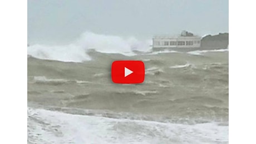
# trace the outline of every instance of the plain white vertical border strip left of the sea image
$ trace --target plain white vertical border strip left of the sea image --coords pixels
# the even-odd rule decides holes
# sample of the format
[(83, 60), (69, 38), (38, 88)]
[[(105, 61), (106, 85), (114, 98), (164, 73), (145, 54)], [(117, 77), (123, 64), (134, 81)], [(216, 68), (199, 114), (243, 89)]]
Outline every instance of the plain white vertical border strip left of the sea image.
[(27, 1), (1, 1), (0, 18), (0, 143), (27, 143)]

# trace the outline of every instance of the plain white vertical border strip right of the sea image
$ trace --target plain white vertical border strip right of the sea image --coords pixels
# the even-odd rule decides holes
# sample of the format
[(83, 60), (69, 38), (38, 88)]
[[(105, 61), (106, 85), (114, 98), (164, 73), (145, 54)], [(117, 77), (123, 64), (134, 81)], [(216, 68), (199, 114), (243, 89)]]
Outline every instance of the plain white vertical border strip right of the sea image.
[(255, 1), (229, 1), (229, 143), (256, 143)]

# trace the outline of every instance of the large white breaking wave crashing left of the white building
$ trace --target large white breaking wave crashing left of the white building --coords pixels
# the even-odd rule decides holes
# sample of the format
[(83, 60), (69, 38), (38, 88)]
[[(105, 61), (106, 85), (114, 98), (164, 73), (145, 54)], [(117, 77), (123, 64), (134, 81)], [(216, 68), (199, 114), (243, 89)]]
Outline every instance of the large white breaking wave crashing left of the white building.
[(82, 62), (91, 60), (86, 53), (88, 49), (95, 49), (101, 53), (120, 53), (135, 55), (134, 50), (149, 51), (151, 40), (137, 40), (134, 37), (122, 38), (115, 35), (85, 32), (80, 38), (68, 45), (35, 44), (27, 48), (28, 55), (39, 59)]

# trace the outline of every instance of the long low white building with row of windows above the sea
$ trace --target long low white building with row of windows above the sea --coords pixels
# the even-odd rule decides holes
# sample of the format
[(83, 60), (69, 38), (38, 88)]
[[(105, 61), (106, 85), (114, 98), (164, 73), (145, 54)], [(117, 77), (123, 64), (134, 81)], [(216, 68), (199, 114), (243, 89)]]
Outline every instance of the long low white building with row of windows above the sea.
[(201, 37), (184, 31), (178, 37), (154, 36), (152, 39), (152, 48), (169, 49), (169, 48), (200, 48)]

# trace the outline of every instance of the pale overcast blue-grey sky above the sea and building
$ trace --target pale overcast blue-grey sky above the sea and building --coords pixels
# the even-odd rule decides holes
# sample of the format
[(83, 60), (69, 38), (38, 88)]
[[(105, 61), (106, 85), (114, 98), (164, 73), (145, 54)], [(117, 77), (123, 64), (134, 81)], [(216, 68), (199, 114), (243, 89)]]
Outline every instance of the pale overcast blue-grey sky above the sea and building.
[(28, 0), (28, 43), (68, 43), (86, 31), (139, 39), (217, 34), (228, 24), (226, 0)]

